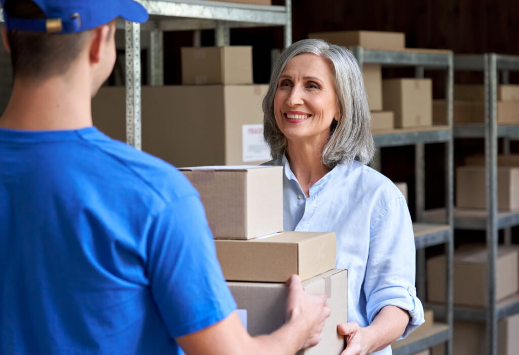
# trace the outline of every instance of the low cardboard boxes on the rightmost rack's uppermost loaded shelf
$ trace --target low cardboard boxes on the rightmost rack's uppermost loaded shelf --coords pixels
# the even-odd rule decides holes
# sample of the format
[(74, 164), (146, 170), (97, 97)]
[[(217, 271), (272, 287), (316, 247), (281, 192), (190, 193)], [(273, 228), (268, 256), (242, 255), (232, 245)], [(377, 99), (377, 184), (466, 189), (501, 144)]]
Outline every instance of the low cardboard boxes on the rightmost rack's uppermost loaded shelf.
[[(519, 85), (499, 85), (497, 90), (497, 123), (519, 124)], [(453, 120), (456, 124), (485, 122), (485, 87), (455, 85)], [(433, 121), (445, 124), (445, 101), (434, 100)]]

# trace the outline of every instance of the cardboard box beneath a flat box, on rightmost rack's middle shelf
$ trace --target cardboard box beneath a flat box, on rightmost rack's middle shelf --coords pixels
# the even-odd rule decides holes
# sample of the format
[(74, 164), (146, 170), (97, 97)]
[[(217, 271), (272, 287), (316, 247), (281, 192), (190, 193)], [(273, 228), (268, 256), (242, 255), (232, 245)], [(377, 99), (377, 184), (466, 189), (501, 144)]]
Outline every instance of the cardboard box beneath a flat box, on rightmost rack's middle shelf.
[[(456, 207), (486, 208), (485, 167), (456, 169)], [(519, 167), (497, 168), (497, 208), (519, 210)]]

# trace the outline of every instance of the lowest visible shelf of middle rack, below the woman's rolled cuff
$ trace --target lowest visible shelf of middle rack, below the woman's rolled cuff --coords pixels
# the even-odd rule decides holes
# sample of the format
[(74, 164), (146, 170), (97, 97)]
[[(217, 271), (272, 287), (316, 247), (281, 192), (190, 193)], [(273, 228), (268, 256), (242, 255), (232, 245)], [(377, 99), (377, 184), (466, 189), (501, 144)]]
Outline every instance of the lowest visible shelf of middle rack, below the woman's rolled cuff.
[(449, 325), (446, 323), (434, 323), (430, 329), (418, 328), (405, 339), (391, 344), (393, 355), (414, 354), (431, 348), (437, 344), (445, 343), (450, 339)]

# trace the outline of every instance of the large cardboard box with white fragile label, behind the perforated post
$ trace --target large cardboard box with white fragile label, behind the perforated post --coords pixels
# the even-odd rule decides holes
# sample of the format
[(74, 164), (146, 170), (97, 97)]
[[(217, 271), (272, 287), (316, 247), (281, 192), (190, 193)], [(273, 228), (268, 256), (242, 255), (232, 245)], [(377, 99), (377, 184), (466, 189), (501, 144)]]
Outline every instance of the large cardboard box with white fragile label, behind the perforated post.
[[(257, 165), (270, 160), (261, 103), (267, 85), (142, 88), (142, 149), (177, 167)], [(103, 87), (94, 126), (126, 141), (124, 87)]]

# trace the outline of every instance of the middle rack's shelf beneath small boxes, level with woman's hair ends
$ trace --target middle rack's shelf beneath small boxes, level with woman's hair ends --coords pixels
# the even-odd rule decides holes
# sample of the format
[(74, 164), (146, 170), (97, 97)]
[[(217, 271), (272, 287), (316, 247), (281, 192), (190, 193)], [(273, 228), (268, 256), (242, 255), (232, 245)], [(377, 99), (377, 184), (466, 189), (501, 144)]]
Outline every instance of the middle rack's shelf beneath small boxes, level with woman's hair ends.
[(395, 128), (374, 130), (373, 140), (377, 147), (412, 145), (418, 143), (444, 143), (450, 140), (449, 126), (430, 126), (417, 128)]

